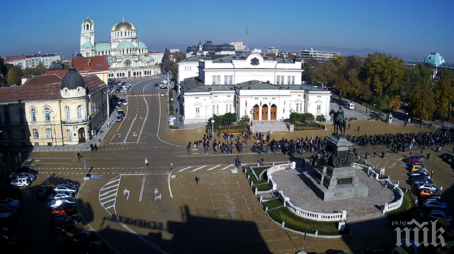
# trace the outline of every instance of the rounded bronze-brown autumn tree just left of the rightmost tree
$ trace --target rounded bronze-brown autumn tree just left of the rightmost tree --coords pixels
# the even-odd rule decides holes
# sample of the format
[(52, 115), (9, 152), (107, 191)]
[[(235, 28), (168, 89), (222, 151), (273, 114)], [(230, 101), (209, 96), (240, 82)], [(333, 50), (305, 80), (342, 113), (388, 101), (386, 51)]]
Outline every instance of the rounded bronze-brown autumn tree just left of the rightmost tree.
[(410, 92), (410, 115), (421, 120), (433, 118), (433, 112), (437, 109), (435, 95), (429, 87), (420, 87)]

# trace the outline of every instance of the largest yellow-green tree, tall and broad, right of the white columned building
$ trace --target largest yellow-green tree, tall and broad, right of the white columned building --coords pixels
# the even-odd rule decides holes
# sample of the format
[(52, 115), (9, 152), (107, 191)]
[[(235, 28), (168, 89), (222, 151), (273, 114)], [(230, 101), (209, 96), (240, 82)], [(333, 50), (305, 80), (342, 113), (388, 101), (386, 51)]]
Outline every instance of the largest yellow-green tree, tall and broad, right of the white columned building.
[(375, 103), (388, 103), (389, 99), (400, 92), (404, 61), (397, 56), (381, 53), (369, 54), (358, 78), (370, 85)]

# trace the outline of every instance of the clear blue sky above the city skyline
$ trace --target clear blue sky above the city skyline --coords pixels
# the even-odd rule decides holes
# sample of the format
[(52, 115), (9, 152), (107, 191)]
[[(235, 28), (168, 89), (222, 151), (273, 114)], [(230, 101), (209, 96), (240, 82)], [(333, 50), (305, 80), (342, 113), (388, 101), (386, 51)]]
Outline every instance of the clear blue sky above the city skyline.
[(263, 51), (271, 46), (371, 49), (419, 61), (440, 52), (454, 63), (451, 0), (17, 0), (3, 1), (1, 7), (1, 56), (56, 52), (68, 58), (79, 49), (80, 24), (89, 16), (96, 42), (109, 41), (112, 27), (125, 17), (150, 51), (185, 51), (199, 39), (246, 43), (248, 26), (249, 47)]

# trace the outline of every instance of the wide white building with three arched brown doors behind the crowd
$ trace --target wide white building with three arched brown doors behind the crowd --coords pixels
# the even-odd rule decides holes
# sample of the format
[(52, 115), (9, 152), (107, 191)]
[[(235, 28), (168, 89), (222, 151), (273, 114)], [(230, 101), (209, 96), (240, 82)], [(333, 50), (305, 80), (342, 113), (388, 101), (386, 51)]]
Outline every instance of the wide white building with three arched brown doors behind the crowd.
[(301, 85), (303, 70), (297, 57), (248, 54), (185, 60), (178, 63), (178, 73), (184, 77), (180, 86), (184, 123), (204, 123), (213, 114), (226, 113), (252, 120), (285, 120), (291, 112), (328, 117), (331, 92)]

